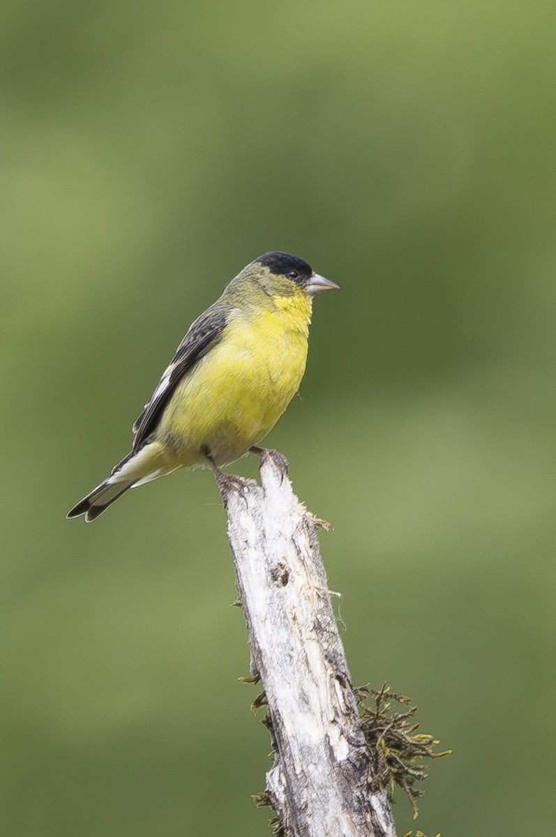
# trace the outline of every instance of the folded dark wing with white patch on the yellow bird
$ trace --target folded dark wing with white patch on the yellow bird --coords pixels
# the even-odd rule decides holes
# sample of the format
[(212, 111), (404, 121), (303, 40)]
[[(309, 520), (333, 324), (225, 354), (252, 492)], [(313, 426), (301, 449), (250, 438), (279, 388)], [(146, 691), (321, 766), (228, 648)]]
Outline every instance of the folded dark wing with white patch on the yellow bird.
[(176, 349), (157, 388), (133, 424), (135, 439), (133, 439), (132, 450), (136, 450), (152, 433), (162, 410), (166, 407), (183, 375), (222, 339), (228, 316), (229, 311), (221, 308), (214, 311), (211, 306), (189, 327), (188, 333)]

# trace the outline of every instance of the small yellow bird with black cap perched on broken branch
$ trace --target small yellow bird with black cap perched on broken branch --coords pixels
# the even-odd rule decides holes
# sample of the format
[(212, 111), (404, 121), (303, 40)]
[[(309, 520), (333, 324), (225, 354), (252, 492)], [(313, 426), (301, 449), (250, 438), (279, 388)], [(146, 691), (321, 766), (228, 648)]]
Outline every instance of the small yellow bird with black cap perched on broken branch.
[(178, 468), (221, 469), (274, 427), (305, 372), (312, 300), (337, 289), (274, 250), (239, 272), (189, 326), (132, 427), (131, 451), (69, 510), (94, 521), (129, 488)]

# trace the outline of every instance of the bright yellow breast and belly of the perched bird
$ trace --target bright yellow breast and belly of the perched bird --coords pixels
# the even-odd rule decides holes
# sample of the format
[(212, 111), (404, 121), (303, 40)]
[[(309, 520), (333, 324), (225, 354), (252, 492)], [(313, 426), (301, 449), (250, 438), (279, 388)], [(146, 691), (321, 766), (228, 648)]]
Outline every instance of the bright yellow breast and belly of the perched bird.
[(217, 465), (234, 462), (264, 438), (296, 394), (311, 299), (273, 301), (271, 308), (235, 310), (223, 339), (179, 383), (157, 434), (172, 440), (179, 464), (206, 464), (203, 449)]

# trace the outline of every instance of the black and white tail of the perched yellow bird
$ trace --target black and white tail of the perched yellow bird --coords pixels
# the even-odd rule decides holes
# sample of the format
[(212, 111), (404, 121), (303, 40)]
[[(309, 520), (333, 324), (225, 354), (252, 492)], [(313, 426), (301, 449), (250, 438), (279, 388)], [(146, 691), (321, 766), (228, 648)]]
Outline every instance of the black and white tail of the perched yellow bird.
[[(167, 469), (161, 467), (159, 445), (151, 443), (138, 451), (132, 451), (118, 462), (107, 480), (97, 485), (90, 494), (80, 500), (73, 509), (69, 509), (66, 517), (85, 515), (85, 521), (90, 523), (111, 506), (122, 494), (135, 485), (143, 485), (150, 480), (156, 480)], [(171, 469), (170, 469), (171, 470)]]

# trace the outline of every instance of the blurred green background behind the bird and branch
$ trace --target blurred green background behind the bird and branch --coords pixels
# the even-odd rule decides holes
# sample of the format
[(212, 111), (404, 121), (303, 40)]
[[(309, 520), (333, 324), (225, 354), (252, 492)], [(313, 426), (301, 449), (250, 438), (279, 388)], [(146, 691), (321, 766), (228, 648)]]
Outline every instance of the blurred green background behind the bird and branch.
[(2, 834), (270, 833), (213, 476), (64, 521), (269, 249), (342, 287), (268, 444), (335, 526), (354, 682), (454, 748), (417, 825), (552, 833), (555, 36), (540, 0), (3, 5)]

